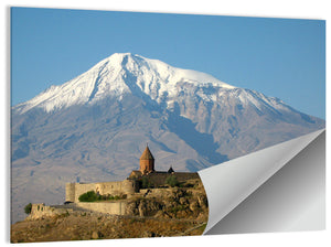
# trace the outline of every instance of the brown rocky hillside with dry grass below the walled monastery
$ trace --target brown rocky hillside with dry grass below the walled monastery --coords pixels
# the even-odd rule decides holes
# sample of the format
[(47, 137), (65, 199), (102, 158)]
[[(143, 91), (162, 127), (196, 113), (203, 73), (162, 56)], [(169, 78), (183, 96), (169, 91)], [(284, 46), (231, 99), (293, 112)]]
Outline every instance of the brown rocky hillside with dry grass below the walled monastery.
[(11, 241), (191, 236), (201, 235), (206, 226), (207, 198), (202, 183), (142, 190), (127, 202), (126, 214), (121, 216), (79, 208), (54, 216), (29, 216), (11, 226)]

